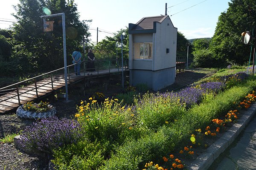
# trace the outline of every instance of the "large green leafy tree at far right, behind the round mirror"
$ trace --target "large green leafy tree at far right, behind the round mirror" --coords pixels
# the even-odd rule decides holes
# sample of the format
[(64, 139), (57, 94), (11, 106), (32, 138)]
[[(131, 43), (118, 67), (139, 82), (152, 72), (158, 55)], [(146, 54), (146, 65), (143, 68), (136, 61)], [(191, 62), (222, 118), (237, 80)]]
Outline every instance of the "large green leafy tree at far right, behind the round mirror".
[(227, 11), (218, 18), (210, 50), (220, 62), (244, 64), (250, 56), (250, 45), (241, 42), (241, 32), (256, 32), (256, 1), (231, 0)]

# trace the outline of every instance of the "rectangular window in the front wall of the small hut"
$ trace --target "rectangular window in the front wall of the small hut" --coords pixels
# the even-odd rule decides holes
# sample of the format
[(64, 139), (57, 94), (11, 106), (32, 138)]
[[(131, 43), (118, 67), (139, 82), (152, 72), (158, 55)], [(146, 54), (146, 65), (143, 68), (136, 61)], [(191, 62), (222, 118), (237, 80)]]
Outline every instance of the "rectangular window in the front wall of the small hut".
[(152, 59), (152, 43), (134, 43), (134, 59)]

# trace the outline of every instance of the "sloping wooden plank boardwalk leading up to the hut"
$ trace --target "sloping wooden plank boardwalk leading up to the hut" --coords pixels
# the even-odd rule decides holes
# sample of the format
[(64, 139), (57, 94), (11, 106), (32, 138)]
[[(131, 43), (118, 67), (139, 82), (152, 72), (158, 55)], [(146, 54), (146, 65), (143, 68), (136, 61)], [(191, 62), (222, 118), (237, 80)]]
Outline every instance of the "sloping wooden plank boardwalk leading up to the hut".
[[(124, 68), (124, 71), (125, 68)], [(74, 74), (67, 77), (67, 84), (74, 84), (83, 79), (94, 79), (98, 77), (106, 77), (111, 74), (122, 73), (121, 68), (111, 68), (106, 70), (99, 70), (93, 72), (93, 75), (87, 75), (81, 73), (81, 76), (76, 76)], [(34, 99), (42, 98), (51, 94), (53, 91), (56, 91), (65, 86), (64, 74), (57, 74), (46, 79), (42, 79), (38, 82), (27, 85), (23, 88), (17, 88), (14, 91), (11, 91), (7, 94), (0, 96), (0, 113), (5, 113), (13, 111), (18, 108), (20, 105), (23, 105), (26, 102), (32, 101)]]

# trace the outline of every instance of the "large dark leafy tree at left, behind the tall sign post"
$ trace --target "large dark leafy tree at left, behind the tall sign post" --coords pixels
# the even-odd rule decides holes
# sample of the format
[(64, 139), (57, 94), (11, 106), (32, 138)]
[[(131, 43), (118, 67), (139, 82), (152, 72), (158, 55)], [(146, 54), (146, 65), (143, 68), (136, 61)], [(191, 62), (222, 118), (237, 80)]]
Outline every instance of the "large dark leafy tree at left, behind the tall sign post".
[(65, 13), (68, 63), (71, 63), (69, 54), (82, 42), (83, 37), (87, 39), (90, 35), (86, 24), (90, 20), (79, 21), (74, 0), (20, 0), (15, 9), (17, 14), (14, 16), (18, 21), (13, 27), (13, 57), (29, 61), (33, 71), (63, 67), (61, 17), (50, 18), (55, 21), (53, 31), (44, 33), (40, 16), (46, 15), (45, 9), (51, 14)]

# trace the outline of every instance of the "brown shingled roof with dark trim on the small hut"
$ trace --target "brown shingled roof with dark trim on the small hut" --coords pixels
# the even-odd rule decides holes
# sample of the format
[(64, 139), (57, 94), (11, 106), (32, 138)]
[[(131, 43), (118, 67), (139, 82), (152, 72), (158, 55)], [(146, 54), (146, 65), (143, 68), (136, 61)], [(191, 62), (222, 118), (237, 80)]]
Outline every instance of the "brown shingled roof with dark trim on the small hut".
[(154, 28), (154, 22), (161, 23), (166, 16), (156, 16), (156, 17), (144, 17), (142, 18), (138, 23), (136, 23), (136, 26), (132, 28), (132, 30), (143, 30), (143, 29), (153, 29)]

